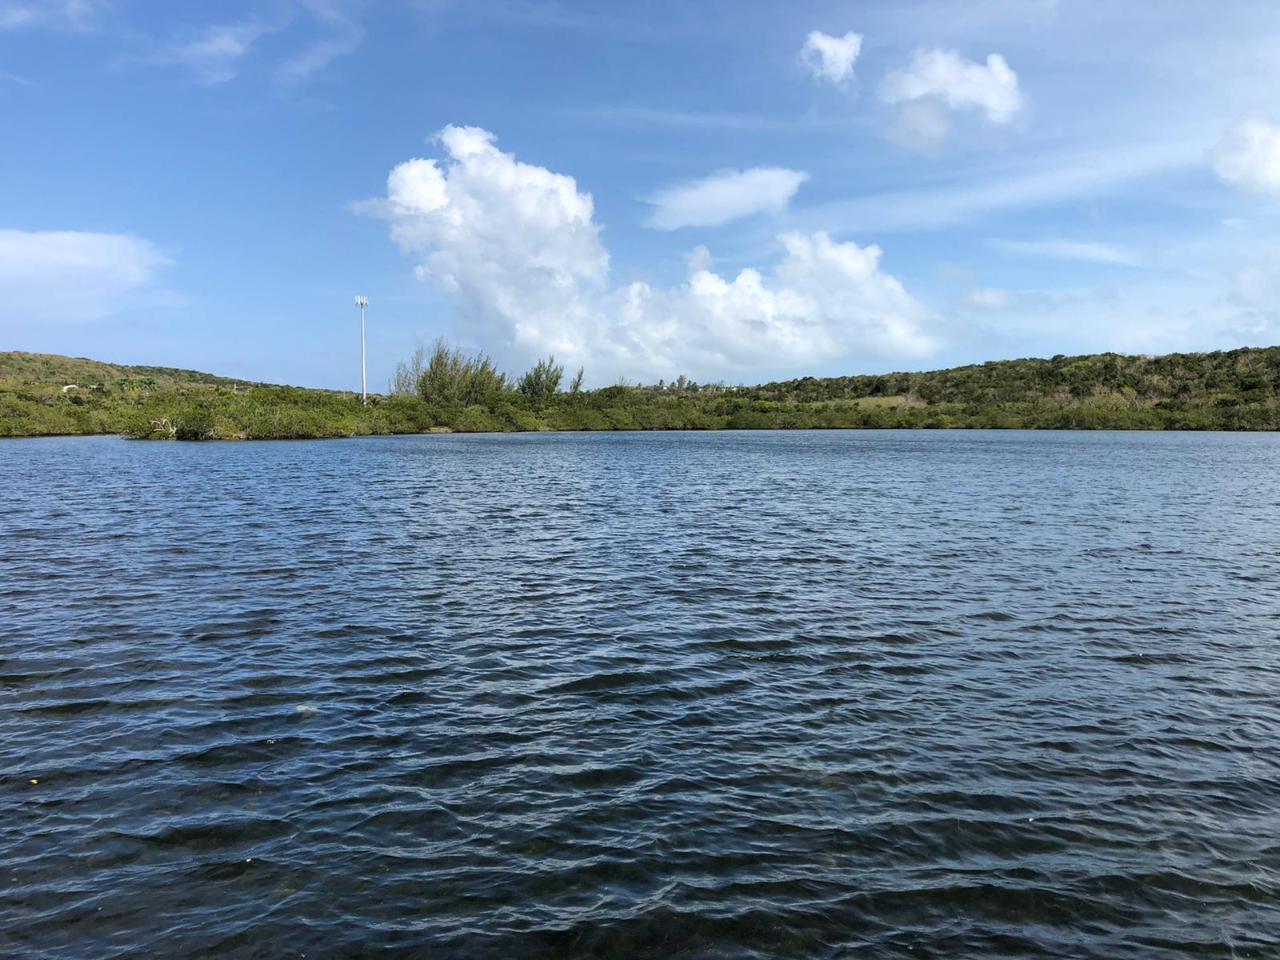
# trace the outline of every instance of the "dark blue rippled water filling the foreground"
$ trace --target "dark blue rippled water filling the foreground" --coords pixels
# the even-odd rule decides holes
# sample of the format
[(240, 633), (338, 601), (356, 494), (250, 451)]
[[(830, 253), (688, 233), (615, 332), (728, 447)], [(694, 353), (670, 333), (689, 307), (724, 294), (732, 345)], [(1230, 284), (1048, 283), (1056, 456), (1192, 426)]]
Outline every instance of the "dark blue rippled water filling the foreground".
[(0, 492), (0, 955), (1280, 951), (1280, 436), (22, 440)]

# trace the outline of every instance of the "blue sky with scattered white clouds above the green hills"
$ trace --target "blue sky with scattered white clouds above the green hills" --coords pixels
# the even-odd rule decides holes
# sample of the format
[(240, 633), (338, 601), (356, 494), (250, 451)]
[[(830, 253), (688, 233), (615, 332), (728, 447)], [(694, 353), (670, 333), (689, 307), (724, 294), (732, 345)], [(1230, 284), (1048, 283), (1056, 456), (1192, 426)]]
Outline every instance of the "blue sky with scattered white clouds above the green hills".
[(0, 0), (0, 349), (358, 388), (1280, 343), (1275, 0)]

